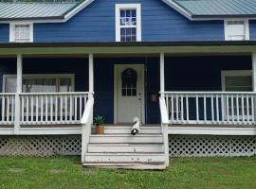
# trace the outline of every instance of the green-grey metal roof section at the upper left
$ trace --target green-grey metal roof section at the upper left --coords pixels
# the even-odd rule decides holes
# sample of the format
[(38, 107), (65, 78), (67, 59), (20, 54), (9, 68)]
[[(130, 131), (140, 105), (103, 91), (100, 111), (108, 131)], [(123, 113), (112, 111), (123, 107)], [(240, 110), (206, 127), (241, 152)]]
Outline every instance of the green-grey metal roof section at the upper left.
[(93, 0), (74, 2), (0, 2), (0, 22), (44, 21), (65, 22)]

